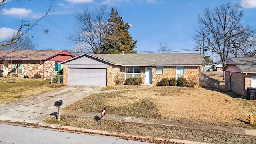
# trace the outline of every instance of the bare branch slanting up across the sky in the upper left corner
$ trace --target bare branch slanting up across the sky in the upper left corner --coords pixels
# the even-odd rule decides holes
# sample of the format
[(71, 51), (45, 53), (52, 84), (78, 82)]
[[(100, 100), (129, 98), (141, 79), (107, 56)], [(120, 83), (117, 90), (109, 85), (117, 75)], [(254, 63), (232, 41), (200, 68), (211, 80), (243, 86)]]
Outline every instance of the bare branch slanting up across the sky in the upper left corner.
[[(6, 0), (1, 0), (0, 1), (0, 10), (2, 10), (2, 8), (5, 6), (5, 2), (6, 2)], [(45, 19), (46, 17), (48, 17), (49, 13), (52, 11), (53, 2), (54, 2), (54, 0), (52, 0), (50, 2), (50, 6), (49, 6), (48, 10), (46, 11), (46, 13), (44, 14), (44, 16), (42, 16), (41, 18), (36, 20), (36, 22), (32, 22), (32, 24), (30, 24), (30, 22), (22, 20), (22, 22), (20, 23), (20, 27), (18, 28), (17, 32), (15, 32), (13, 34), (13, 36), (10, 40), (0, 42), (0, 47), (15, 44), (18, 40), (20, 40), (20, 38), (22, 38), (22, 36), (24, 36), (28, 32), (28, 30), (35, 27), (40, 20)], [(44, 32), (48, 33), (49, 30), (44, 30)]]

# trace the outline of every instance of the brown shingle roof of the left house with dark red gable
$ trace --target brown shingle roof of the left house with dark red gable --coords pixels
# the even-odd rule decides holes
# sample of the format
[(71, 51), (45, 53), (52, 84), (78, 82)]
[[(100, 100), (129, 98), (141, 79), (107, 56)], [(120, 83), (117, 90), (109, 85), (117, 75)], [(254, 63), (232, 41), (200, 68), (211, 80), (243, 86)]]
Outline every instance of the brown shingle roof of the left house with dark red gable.
[(1, 50), (1, 60), (45, 60), (64, 50)]

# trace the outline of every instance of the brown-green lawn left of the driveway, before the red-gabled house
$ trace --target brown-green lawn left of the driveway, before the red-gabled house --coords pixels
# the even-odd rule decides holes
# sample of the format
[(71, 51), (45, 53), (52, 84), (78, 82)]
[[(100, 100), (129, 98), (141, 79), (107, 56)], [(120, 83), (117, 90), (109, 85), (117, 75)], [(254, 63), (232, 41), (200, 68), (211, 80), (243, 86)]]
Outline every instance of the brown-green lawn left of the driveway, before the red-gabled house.
[(21, 98), (41, 94), (60, 88), (62, 85), (50, 84), (50, 80), (34, 78), (15, 78), (16, 82), (7, 83), (7, 79), (0, 81), (0, 102), (8, 103)]

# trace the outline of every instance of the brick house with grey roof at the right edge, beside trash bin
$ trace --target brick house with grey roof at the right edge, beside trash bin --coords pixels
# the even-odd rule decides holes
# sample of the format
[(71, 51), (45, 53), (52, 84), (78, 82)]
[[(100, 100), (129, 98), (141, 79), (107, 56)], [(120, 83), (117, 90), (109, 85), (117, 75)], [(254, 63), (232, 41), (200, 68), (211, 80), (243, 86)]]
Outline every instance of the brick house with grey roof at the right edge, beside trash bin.
[(248, 87), (256, 87), (256, 58), (230, 58), (222, 69), (228, 90), (247, 96)]

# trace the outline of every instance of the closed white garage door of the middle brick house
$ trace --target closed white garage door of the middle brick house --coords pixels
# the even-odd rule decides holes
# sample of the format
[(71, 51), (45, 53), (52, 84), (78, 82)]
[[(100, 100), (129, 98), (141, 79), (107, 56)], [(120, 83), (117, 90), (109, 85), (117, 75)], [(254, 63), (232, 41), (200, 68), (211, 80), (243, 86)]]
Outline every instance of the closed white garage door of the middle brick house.
[(106, 69), (69, 68), (68, 85), (106, 86)]

